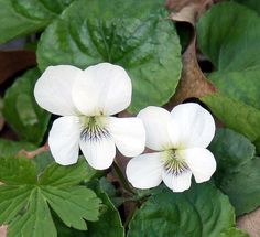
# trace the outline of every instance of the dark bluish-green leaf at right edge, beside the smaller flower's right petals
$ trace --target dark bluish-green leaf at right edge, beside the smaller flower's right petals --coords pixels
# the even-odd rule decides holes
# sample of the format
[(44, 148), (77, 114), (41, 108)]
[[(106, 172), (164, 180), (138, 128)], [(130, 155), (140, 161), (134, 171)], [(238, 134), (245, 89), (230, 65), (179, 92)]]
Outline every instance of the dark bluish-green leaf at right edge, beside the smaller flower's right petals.
[(229, 129), (217, 131), (209, 150), (218, 169), (219, 188), (229, 196), (236, 214), (249, 213), (260, 205), (260, 159), (248, 139)]

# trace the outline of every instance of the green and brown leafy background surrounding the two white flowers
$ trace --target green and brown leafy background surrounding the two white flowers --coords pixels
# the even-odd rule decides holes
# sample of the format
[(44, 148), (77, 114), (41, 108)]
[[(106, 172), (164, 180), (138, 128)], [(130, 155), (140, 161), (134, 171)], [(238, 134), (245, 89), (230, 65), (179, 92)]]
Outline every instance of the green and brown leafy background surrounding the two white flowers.
[[(22, 51), (0, 51), (0, 225), (9, 237), (248, 236), (235, 226), (260, 205), (260, 8), (237, 0), (206, 11), (207, 2), (0, 0), (0, 43), (25, 39)], [(191, 97), (207, 106), (219, 125), (212, 182), (132, 193), (113, 169), (53, 162), (53, 118), (34, 100), (36, 79), (48, 65), (105, 61), (132, 79), (128, 112)]]

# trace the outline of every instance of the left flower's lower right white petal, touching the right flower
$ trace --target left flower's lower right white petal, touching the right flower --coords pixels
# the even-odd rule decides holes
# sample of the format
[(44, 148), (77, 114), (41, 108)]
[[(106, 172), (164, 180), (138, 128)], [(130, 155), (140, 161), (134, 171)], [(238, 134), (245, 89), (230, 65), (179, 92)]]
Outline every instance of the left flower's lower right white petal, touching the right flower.
[(107, 129), (123, 155), (136, 157), (143, 152), (145, 130), (141, 119), (109, 117)]

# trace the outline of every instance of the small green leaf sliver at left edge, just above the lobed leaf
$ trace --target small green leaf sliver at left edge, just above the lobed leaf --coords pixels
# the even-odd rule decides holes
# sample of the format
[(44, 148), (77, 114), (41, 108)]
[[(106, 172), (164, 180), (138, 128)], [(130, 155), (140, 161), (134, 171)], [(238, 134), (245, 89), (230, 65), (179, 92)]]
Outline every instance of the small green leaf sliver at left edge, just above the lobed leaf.
[(11, 141), (6, 139), (0, 139), (0, 157), (17, 157), (21, 150), (33, 150), (34, 144), (23, 141)]

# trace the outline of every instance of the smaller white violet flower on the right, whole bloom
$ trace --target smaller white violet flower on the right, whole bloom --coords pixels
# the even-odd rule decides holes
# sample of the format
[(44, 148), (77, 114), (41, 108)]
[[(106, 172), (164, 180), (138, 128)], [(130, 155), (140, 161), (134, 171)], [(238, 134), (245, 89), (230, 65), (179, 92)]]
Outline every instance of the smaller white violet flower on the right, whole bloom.
[(173, 192), (208, 181), (216, 161), (207, 146), (215, 134), (212, 115), (197, 104), (178, 105), (172, 112), (150, 106), (141, 110), (147, 131), (147, 147), (155, 150), (130, 160), (127, 176), (137, 188), (158, 186), (162, 181)]

